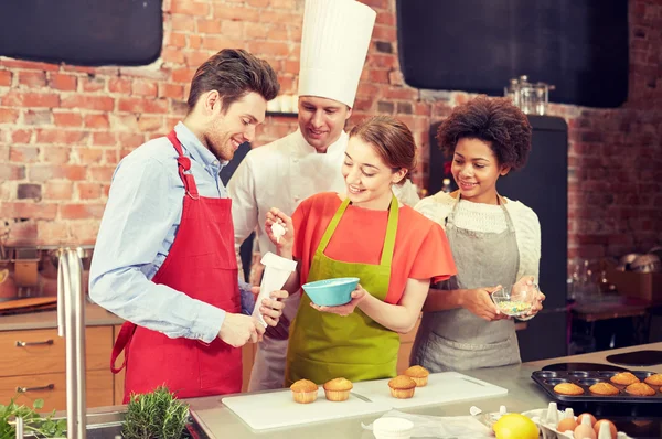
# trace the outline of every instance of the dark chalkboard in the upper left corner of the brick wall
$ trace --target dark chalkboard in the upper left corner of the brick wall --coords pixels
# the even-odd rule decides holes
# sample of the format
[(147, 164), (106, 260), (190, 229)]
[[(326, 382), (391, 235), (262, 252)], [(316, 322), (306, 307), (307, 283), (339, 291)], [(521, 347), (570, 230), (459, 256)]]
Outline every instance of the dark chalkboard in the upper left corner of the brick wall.
[(0, 2), (0, 55), (74, 65), (145, 65), (160, 56), (161, 0)]

